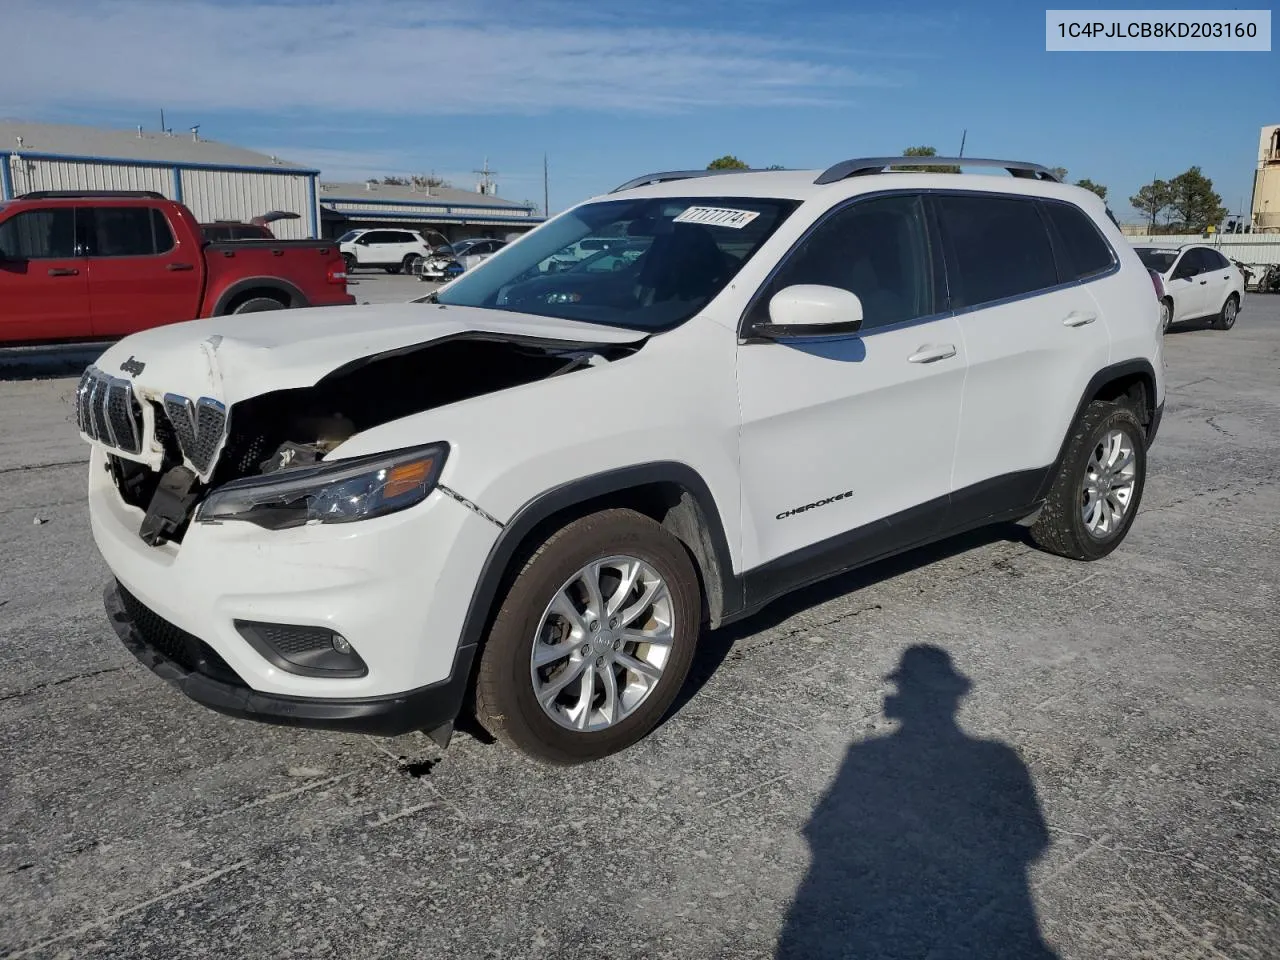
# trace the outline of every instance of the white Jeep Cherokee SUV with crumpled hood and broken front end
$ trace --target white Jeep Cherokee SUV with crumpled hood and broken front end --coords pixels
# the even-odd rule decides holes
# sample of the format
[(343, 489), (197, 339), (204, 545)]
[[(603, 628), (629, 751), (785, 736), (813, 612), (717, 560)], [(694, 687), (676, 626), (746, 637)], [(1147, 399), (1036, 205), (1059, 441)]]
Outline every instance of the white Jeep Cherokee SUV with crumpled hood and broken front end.
[[(218, 710), (580, 762), (704, 625), (1021, 521), (1110, 553), (1160, 316), (1092, 193), (888, 172), (643, 177), (419, 302), (134, 334), (84, 374), (111, 621)], [(608, 270), (550, 268), (625, 238)]]

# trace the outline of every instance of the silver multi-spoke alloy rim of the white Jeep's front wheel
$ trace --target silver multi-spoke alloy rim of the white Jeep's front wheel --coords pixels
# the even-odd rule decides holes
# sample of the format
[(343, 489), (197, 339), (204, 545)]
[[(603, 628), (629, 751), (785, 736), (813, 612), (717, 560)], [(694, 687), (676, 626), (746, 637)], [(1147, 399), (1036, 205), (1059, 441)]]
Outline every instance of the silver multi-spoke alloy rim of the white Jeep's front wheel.
[(529, 659), (534, 698), (562, 727), (608, 730), (649, 699), (675, 636), (671, 589), (652, 564), (591, 561), (543, 611)]

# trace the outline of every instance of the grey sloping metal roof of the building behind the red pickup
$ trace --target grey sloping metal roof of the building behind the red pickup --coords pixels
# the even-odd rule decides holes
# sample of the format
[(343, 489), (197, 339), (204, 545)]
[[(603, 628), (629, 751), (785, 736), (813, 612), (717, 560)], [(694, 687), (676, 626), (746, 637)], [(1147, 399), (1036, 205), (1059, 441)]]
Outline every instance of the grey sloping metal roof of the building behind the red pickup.
[[(18, 138), (22, 142), (18, 142)], [(165, 164), (200, 164), (207, 166), (276, 168), (311, 173), (308, 168), (291, 164), (266, 154), (233, 147), (211, 140), (193, 140), (189, 132), (173, 136), (157, 131), (109, 131), (97, 127), (73, 127), (58, 123), (0, 120), (0, 152), (52, 154), (55, 156), (141, 160)]]

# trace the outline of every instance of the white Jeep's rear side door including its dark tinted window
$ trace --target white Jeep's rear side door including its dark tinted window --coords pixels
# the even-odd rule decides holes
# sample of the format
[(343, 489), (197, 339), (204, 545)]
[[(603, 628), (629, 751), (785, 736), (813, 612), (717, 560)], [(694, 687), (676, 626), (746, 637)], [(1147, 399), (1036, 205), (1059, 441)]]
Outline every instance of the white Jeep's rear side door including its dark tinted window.
[[(1107, 365), (1106, 317), (1088, 279), (1110, 274), (1115, 261), (1071, 205), (1050, 212), (1004, 193), (948, 193), (934, 204), (969, 361), (952, 511), (957, 522), (974, 522), (1034, 499), (1089, 378)], [(1073, 224), (1073, 234), (1092, 234), (1101, 262), (1082, 257), (1076, 269), (1065, 250), (1055, 257), (1050, 216), (1064, 232)]]

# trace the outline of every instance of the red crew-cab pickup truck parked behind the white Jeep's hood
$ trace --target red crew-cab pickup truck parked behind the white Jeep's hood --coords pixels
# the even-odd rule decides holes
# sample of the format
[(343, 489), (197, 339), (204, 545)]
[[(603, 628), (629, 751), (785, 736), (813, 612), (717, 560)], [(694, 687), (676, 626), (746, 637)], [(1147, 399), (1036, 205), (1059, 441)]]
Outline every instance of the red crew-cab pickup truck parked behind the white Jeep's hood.
[(159, 193), (0, 202), (0, 346), (355, 302), (332, 241), (211, 243), (187, 207)]

